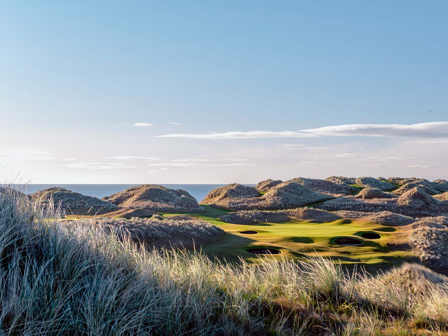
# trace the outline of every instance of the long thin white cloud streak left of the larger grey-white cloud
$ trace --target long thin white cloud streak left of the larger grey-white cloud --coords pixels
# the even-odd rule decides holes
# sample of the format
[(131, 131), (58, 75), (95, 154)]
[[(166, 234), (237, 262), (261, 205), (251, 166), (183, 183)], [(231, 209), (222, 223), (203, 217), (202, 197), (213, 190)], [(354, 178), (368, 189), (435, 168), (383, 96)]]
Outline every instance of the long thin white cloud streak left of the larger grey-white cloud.
[(210, 133), (210, 134), (165, 134), (165, 135), (157, 135), (156, 137), (231, 140), (231, 139), (260, 139), (260, 138), (317, 138), (319, 136), (294, 131), (281, 131), (281, 132), (249, 131), (249, 132), (223, 132), (223, 133)]

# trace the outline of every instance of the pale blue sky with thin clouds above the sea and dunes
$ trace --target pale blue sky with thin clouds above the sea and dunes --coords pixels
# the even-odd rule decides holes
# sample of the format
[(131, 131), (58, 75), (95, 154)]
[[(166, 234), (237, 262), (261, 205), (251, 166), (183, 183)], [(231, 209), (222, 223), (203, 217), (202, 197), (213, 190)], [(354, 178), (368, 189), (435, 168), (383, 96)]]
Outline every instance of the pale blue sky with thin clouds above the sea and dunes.
[(448, 179), (447, 10), (3, 1), (0, 179)]

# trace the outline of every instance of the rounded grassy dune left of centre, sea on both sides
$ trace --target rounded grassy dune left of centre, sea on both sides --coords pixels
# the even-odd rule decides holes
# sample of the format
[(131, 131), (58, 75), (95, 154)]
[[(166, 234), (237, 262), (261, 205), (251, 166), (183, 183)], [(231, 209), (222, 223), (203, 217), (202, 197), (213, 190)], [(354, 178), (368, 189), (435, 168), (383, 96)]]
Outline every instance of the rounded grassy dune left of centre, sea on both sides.
[(181, 189), (162, 185), (137, 185), (102, 198), (118, 207), (161, 212), (204, 212), (196, 199)]

